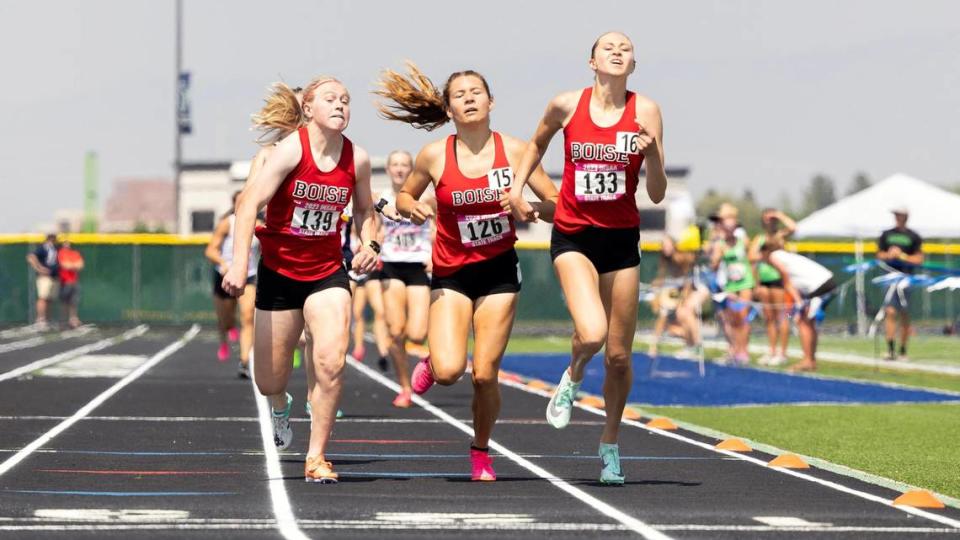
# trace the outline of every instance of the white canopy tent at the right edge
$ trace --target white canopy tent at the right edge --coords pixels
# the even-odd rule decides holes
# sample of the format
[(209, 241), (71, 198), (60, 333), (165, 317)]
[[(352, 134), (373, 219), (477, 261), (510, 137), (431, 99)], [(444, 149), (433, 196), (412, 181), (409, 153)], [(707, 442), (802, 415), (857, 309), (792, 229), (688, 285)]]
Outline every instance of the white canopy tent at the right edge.
[[(960, 195), (922, 180), (895, 174), (869, 188), (818, 210), (797, 223), (798, 238), (853, 238), (857, 262), (863, 241), (894, 226), (891, 210), (906, 208), (907, 226), (924, 238), (960, 236)], [(866, 330), (863, 270), (857, 271), (857, 331)]]

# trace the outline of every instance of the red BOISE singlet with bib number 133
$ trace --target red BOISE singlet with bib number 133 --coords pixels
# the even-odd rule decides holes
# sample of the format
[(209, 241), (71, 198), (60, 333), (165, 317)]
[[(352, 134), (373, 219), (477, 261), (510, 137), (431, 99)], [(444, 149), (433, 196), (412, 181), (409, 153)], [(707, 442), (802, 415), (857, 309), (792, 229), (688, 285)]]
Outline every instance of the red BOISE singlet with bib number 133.
[(567, 234), (640, 226), (636, 193), (643, 154), (637, 148), (636, 95), (627, 92), (623, 116), (610, 127), (593, 123), (591, 95), (593, 88), (584, 89), (563, 128), (563, 181), (553, 224)]

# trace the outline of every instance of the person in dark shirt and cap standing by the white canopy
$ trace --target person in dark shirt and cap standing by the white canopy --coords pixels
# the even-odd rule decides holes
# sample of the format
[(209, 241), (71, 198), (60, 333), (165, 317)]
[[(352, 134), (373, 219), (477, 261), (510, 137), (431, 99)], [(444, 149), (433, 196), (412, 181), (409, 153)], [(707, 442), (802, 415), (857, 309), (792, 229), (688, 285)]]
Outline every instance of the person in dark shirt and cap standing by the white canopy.
[[(877, 240), (877, 259), (882, 264), (902, 272), (913, 274), (917, 266), (923, 264), (923, 239), (913, 229), (907, 228), (910, 211), (905, 206), (892, 210), (896, 226), (883, 231)], [(907, 360), (907, 340), (910, 339), (910, 288), (894, 282), (887, 290), (884, 299), (886, 320), (884, 329), (887, 335), (887, 354), (884, 360)], [(897, 325), (900, 325), (900, 350), (896, 350)]]

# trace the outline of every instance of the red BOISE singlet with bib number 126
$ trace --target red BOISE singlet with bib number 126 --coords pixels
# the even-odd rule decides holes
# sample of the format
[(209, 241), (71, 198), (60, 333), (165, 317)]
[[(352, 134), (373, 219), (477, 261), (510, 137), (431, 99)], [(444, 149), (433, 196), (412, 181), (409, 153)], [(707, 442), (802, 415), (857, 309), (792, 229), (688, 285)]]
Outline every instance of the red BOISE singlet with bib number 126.
[(466, 264), (492, 259), (517, 241), (513, 216), (500, 207), (500, 192), (513, 182), (500, 134), (493, 132), (493, 167), (479, 178), (467, 178), (457, 164), (457, 137), (447, 138), (443, 174), (437, 182), (437, 235), (433, 273), (444, 277)]

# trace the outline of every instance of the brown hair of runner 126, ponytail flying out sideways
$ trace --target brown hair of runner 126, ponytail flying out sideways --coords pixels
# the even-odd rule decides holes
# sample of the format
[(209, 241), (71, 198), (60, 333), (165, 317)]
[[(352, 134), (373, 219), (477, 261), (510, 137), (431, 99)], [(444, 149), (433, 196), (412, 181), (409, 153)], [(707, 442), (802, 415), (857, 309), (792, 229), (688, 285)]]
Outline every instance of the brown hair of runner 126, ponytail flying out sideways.
[(386, 98), (393, 103), (377, 103), (380, 116), (387, 120), (396, 120), (412, 125), (417, 129), (433, 131), (450, 121), (447, 109), (450, 105), (450, 84), (460, 77), (474, 76), (483, 83), (487, 95), (490, 85), (480, 73), (467, 69), (451, 73), (440, 91), (433, 82), (417, 68), (416, 64), (407, 61), (408, 74), (404, 75), (391, 69), (386, 69), (380, 76), (379, 89), (374, 94)]

